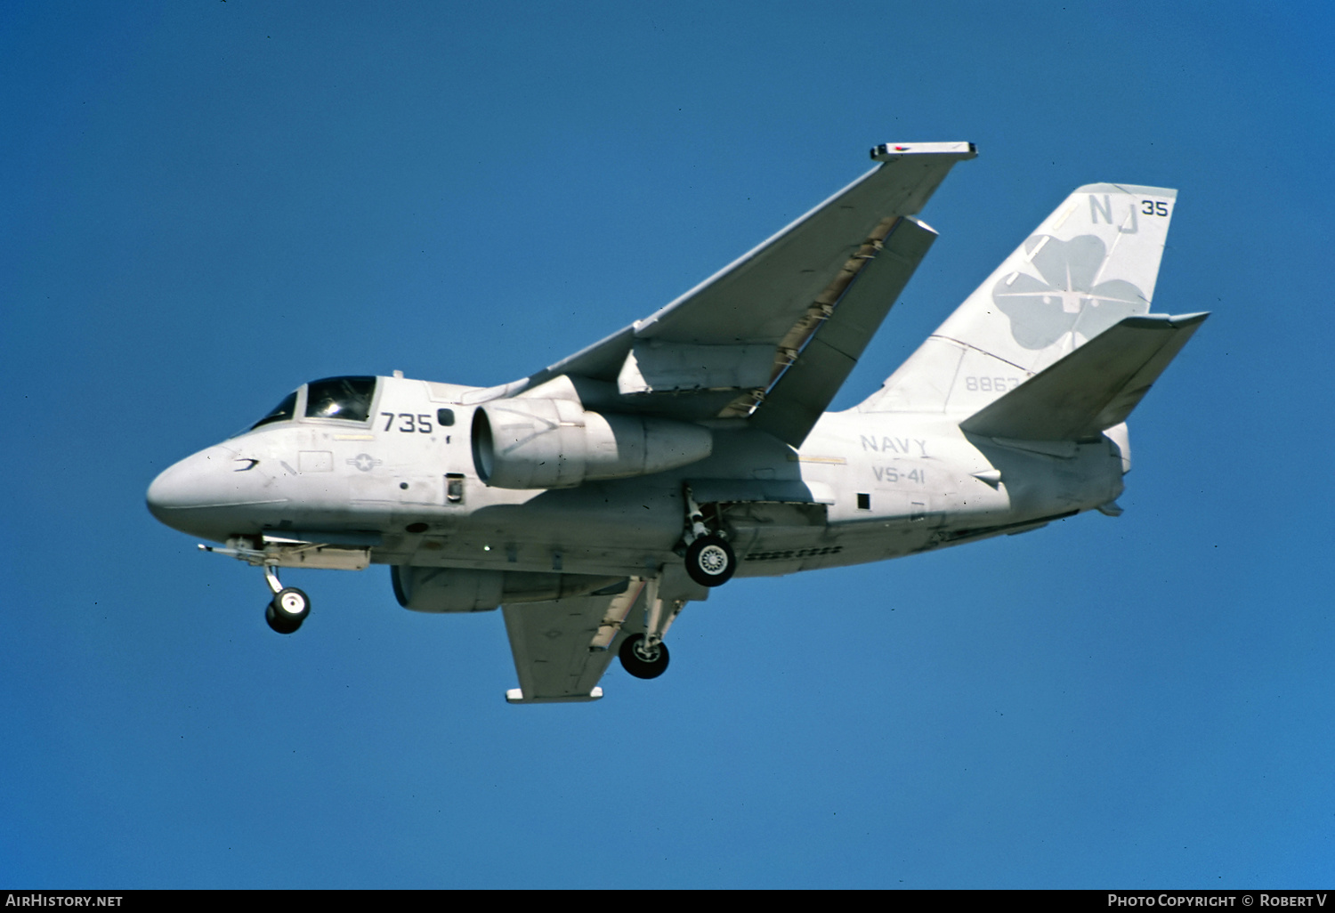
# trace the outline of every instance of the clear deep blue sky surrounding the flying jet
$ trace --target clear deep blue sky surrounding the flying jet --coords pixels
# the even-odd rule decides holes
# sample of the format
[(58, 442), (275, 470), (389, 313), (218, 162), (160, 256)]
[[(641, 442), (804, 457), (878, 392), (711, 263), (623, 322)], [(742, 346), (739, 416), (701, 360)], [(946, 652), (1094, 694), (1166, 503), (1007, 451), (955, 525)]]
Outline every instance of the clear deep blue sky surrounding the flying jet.
[[(1168, 7), (1168, 8), (1164, 8)], [(1326, 4), (0, 8), (0, 885), (1320, 886), (1335, 874)], [(290, 388), (525, 376), (972, 140), (850, 406), (1079, 184), (1214, 311), (1117, 519), (737, 581), (511, 707), (498, 614), (144, 510)]]

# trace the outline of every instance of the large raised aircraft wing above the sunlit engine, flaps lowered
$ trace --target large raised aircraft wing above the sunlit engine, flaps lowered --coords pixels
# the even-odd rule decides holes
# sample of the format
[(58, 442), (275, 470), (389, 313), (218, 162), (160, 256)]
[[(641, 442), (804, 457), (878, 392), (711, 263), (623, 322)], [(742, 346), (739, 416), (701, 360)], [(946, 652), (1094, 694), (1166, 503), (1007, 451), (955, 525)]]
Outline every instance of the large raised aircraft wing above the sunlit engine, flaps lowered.
[(590, 408), (756, 416), (800, 444), (936, 236), (913, 214), (975, 155), (972, 143), (878, 145), (877, 167), (677, 300), (474, 402), (565, 375)]

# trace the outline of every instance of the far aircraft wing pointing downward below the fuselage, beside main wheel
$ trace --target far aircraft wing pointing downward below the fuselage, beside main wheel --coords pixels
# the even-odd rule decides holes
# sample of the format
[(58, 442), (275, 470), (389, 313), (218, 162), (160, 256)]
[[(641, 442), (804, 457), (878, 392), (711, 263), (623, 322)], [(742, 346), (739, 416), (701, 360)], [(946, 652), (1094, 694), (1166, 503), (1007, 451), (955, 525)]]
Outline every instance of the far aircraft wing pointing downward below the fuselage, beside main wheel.
[(510, 703), (597, 701), (598, 679), (627, 634), (643, 630), (645, 582), (625, 593), (503, 606), (519, 687)]

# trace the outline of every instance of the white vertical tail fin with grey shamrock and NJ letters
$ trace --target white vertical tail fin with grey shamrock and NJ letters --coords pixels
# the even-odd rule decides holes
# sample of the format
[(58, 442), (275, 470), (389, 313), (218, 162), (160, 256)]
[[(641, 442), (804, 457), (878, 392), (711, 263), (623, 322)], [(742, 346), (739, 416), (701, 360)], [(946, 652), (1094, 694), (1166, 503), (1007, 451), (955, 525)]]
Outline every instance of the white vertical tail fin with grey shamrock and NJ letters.
[(1131, 184), (1076, 190), (858, 408), (977, 412), (1148, 314), (1176, 198)]

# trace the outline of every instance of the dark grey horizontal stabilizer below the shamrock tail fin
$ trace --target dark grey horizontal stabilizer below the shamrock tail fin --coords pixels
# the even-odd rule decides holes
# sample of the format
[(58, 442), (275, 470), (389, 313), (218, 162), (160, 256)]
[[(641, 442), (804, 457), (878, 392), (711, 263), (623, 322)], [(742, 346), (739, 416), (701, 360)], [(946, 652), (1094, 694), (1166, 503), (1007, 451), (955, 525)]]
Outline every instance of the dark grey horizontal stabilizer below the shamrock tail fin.
[(1081, 440), (1121, 424), (1208, 314), (1127, 318), (960, 427), (1016, 440)]

